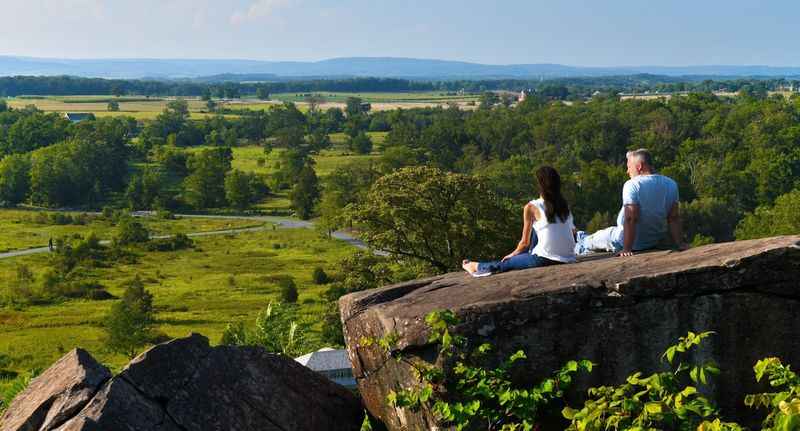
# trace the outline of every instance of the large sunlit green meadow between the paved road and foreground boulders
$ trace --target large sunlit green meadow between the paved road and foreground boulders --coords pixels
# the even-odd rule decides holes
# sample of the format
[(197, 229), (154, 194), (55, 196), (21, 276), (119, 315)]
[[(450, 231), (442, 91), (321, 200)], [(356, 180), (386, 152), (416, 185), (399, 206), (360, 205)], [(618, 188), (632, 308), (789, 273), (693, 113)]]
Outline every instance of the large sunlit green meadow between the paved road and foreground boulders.
[[(280, 276), (295, 279), (301, 312), (312, 322), (318, 339), (319, 316), (326, 303), (326, 287), (311, 281), (315, 266), (329, 273), (333, 262), (350, 246), (322, 239), (312, 229), (286, 229), (240, 235), (206, 237), (196, 248), (177, 252), (138, 252), (136, 264), (88, 270), (115, 296), (120, 283), (139, 275), (155, 297), (158, 330), (170, 337), (199, 332), (218, 343), (226, 324), (243, 320), (252, 325), (260, 310), (278, 299)], [(13, 280), (17, 265), (27, 265), (37, 276), (48, 256), (0, 260), (0, 286)], [(74, 347), (89, 350), (100, 361), (118, 369), (127, 358), (103, 348), (101, 322), (111, 301), (69, 300), (21, 310), (0, 308), (0, 353), (11, 359), (14, 371), (47, 367)]]

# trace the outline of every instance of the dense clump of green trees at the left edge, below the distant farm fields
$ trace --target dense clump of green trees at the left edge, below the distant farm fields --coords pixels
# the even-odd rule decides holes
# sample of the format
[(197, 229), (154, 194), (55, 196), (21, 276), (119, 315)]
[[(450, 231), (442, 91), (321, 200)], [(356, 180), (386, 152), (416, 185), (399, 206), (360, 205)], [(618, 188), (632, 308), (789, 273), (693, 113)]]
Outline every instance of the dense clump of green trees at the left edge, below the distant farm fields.
[(120, 190), (134, 127), (121, 118), (73, 125), (38, 111), (0, 113), (0, 202), (91, 204)]

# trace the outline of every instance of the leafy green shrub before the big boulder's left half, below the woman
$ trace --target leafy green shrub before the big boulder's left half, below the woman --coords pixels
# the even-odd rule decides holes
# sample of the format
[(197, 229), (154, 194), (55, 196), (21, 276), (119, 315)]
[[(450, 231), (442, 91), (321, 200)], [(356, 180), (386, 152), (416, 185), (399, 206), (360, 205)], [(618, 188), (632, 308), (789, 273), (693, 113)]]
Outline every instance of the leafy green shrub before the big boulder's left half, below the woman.
[[(444, 425), (457, 430), (534, 429), (552, 402), (563, 397), (574, 375), (591, 372), (593, 367), (590, 361), (569, 361), (552, 377), (519, 387), (511, 380), (511, 370), (526, 359), (523, 351), (517, 351), (498, 367), (487, 367), (491, 344), (468, 351), (466, 338), (450, 332), (458, 323), (451, 311), (434, 311), (425, 321), (431, 328), (429, 341), (436, 343), (444, 359), (453, 361), (455, 366), (445, 373), (427, 363), (414, 364), (419, 385), (390, 392), (388, 402), (396, 408), (430, 410)], [(388, 351), (394, 341), (389, 336), (378, 343)]]

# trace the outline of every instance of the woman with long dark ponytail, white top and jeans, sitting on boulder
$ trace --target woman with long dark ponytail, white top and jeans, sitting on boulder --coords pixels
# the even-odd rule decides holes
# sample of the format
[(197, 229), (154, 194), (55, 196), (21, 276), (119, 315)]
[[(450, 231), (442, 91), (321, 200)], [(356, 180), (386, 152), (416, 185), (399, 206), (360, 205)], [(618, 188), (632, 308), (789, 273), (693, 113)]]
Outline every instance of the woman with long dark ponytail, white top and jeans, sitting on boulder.
[(462, 267), (470, 275), (482, 277), (515, 269), (575, 262), (575, 225), (569, 205), (561, 195), (561, 177), (552, 167), (542, 166), (536, 171), (536, 180), (540, 196), (525, 205), (522, 239), (517, 248), (500, 261), (471, 262), (465, 259)]

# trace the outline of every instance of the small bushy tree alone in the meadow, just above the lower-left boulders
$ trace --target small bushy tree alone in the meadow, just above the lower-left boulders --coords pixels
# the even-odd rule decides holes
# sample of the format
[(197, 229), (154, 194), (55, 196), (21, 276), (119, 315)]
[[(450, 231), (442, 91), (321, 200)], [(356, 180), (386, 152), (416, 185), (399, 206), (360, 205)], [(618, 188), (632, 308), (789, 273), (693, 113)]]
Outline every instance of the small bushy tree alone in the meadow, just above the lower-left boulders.
[(132, 359), (153, 338), (153, 295), (138, 276), (124, 287), (125, 293), (111, 306), (103, 329), (108, 349)]

